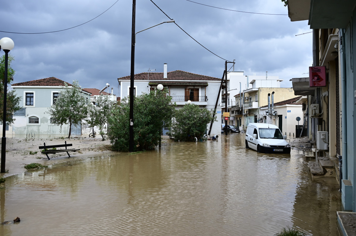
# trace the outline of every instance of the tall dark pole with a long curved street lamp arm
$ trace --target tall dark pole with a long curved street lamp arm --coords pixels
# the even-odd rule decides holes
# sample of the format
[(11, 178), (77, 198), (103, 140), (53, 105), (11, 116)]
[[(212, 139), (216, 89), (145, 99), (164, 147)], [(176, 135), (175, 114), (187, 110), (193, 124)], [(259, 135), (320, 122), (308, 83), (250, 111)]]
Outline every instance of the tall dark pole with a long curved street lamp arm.
[[(136, 34), (140, 33), (142, 31), (145, 31), (146, 29), (143, 29), (141, 31), (138, 31), (135, 33), (135, 19), (136, 19), (136, 0), (132, 0), (132, 34), (131, 34), (131, 75), (130, 75), (130, 126), (129, 126), (129, 132), (130, 132), (130, 139), (129, 139), (129, 152), (133, 152), (133, 86), (134, 86), (134, 79), (135, 79), (135, 45), (136, 45)], [(155, 26), (158, 26), (163, 23), (171, 23), (174, 22), (173, 20), (171, 21), (164, 21), (159, 24), (156, 24)], [(151, 26), (155, 27), (155, 26)], [(147, 28), (147, 29), (150, 29)]]

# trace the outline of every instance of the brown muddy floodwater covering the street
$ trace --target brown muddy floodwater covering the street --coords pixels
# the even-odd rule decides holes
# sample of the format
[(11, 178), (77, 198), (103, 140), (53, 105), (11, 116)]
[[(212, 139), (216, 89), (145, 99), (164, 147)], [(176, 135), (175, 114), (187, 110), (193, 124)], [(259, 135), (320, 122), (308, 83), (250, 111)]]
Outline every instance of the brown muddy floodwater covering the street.
[(244, 133), (71, 160), (6, 179), (0, 235), (337, 236), (336, 181), (312, 181), (301, 151), (245, 149)]

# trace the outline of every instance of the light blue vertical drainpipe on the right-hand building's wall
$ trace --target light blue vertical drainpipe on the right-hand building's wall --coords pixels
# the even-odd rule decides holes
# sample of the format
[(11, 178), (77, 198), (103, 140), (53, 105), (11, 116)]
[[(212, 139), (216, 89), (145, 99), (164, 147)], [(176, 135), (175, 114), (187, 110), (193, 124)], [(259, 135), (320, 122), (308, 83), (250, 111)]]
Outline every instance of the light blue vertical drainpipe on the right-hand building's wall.
[(345, 57), (345, 31), (344, 29), (339, 29), (341, 34), (340, 40), (340, 65), (341, 65), (341, 93), (342, 93), (342, 116), (341, 116), (341, 124), (342, 124), (342, 167), (344, 170), (342, 171), (342, 179), (347, 180), (347, 108), (346, 108), (346, 57)]

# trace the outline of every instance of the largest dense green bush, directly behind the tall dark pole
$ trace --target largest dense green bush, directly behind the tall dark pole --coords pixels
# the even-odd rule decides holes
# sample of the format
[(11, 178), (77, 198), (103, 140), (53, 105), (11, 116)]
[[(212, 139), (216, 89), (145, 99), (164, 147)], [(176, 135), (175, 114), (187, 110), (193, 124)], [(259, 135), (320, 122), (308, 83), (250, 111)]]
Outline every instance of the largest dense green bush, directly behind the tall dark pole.
[[(174, 105), (166, 89), (152, 90), (137, 96), (133, 103), (133, 151), (154, 149), (161, 138), (163, 124), (169, 126)], [(109, 139), (113, 150), (129, 150), (129, 113), (128, 98), (121, 100), (120, 106), (114, 106), (109, 117)]]

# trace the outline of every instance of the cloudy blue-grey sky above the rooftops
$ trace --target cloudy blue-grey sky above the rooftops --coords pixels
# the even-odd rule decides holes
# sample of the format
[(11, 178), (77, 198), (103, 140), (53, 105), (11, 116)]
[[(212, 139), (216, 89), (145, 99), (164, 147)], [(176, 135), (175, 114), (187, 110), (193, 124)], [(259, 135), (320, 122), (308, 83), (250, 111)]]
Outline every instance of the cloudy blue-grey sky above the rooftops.
[[(176, 24), (165, 23), (137, 34), (135, 73), (148, 68), (183, 70), (221, 78), (225, 60), (245, 75), (307, 77), (312, 65), (312, 33), (308, 21), (290, 22), (280, 0), (152, 0)], [(150, 0), (136, 1), (136, 32), (169, 18)], [(14, 40), (14, 83), (57, 77), (77, 79), (82, 87), (105, 87), (118, 94), (117, 78), (130, 75), (131, 0), (4, 1), (0, 38)], [(113, 5), (114, 4), (114, 5)], [(109, 10), (107, 10), (113, 5)], [(107, 11), (106, 11), (107, 10)], [(103, 13), (106, 11), (105, 13)], [(254, 14), (244, 12), (265, 14)], [(102, 15), (100, 15), (103, 13)], [(266, 15), (285, 14), (285, 15)], [(94, 20), (94, 17), (100, 15)], [(83, 24), (84, 22), (90, 21)], [(83, 24), (81, 26), (61, 31)], [(3, 51), (1, 51), (1, 55)]]

